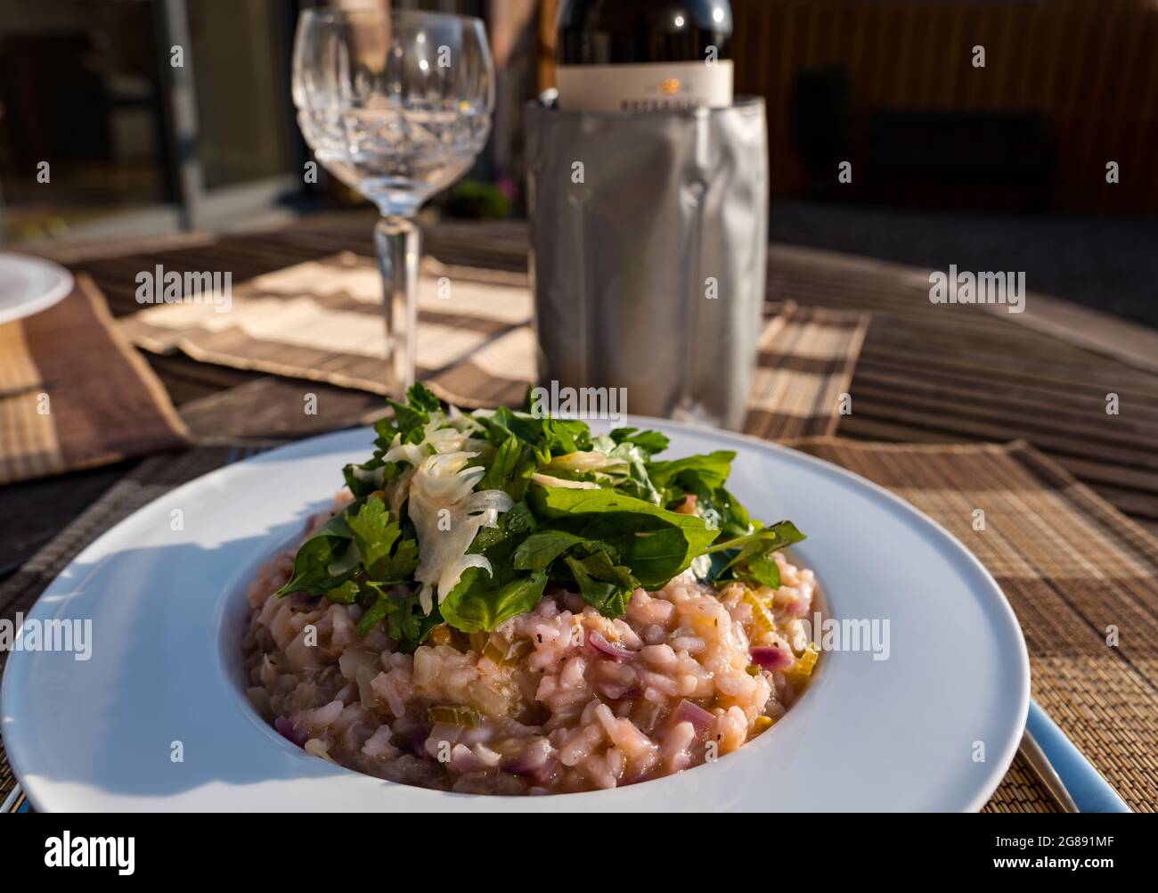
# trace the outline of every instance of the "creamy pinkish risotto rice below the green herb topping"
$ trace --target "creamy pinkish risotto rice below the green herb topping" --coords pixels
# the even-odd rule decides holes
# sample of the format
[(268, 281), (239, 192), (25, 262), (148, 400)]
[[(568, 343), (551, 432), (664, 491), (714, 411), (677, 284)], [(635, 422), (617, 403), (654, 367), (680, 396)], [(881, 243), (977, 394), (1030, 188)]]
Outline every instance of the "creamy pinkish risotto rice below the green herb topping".
[[(808, 644), (799, 618), (815, 584), (776, 558), (775, 592), (716, 592), (686, 573), (637, 591), (617, 620), (559, 592), (504, 623), (491, 645), (444, 628), (411, 656), (382, 629), (360, 638), (357, 606), (271, 598), (290, 579), (287, 552), (249, 587), (249, 697), (307, 753), (405, 784), (519, 795), (655, 778), (735, 751), (798, 696), (789, 680), (805, 675), (793, 673)], [(593, 634), (632, 656), (608, 656)], [(755, 645), (792, 664), (754, 668)], [(713, 719), (681, 713), (684, 698)], [(460, 708), (450, 716), (477, 717), (477, 727), (432, 723), (432, 707)]]

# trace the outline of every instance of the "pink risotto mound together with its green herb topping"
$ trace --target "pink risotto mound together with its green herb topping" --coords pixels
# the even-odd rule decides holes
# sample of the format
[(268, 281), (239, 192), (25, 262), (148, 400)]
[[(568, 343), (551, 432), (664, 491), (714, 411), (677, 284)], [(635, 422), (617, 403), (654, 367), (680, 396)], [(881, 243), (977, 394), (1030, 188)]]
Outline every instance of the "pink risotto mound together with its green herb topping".
[[(249, 587), (248, 694), (283, 735), (395, 782), (563, 793), (725, 756), (799, 697), (818, 658), (805, 621), (815, 583), (779, 549), (802, 534), (748, 519), (723, 489), (730, 454), (637, 454), (657, 495), (645, 503), (625, 477), (600, 476), (618, 444), (576, 430), (557, 451), (532, 442), (525, 485), (501, 486), (485, 461), (514, 467), (498, 455), (519, 448), (513, 424), (488, 451), (489, 424), (425, 400), (422, 430), (380, 429), (375, 459), (347, 468), (351, 491)], [(466, 433), (448, 444), (441, 431)], [(402, 445), (418, 449), (391, 459)], [(424, 492), (423, 475), (462, 447), (479, 473), (455, 460), (449, 480), (469, 486)], [(454, 520), (430, 526), (424, 499)]]

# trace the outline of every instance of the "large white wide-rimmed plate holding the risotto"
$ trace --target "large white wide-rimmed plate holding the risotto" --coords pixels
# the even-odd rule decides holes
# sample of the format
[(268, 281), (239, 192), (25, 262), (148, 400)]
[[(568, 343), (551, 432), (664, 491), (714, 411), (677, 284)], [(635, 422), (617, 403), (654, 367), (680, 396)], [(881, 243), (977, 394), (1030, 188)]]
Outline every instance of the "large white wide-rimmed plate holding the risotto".
[[(735, 449), (731, 488), (797, 548), (837, 618), (888, 620), (891, 654), (826, 653), (805, 696), (718, 762), (613, 791), (453, 795), (307, 756), (243, 694), (244, 588), (329, 504), (347, 431), (219, 469), (162, 496), (85, 549), (30, 620), (91, 618), (91, 657), (9, 656), (0, 716), (38, 810), (594, 811), (979, 810), (1017, 749), (1029, 698), (1020, 628), (957, 540), (885, 490), (752, 438), (636, 419), (670, 455)], [(178, 514), (179, 513), (179, 514)], [(183, 529), (174, 530), (181, 518)], [(25, 621), (27, 622), (27, 621)], [(183, 761), (173, 754), (181, 742)], [(983, 748), (983, 749), (982, 749)], [(981, 755), (984, 759), (979, 760)]]

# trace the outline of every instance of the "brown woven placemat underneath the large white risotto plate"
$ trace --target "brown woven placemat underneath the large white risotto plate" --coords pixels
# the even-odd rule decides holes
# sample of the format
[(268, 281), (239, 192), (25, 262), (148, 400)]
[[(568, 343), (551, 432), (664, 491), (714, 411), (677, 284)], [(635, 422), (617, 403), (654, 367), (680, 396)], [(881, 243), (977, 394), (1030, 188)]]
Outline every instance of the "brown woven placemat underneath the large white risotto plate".
[[(811, 438), (793, 445), (892, 489), (981, 558), (1025, 630), (1034, 697), (1133, 808), (1152, 811), (1158, 542), (1024, 442), (924, 447)], [(177, 460), (146, 460), (0, 586), (0, 615), (27, 610), (81, 548), (141, 505), (254, 449), (198, 447)], [(977, 508), (984, 530), (975, 529)], [(1116, 647), (1106, 644), (1111, 624), (1120, 630)], [(0, 753), (0, 801), (14, 784)], [(985, 806), (1054, 810), (1020, 756)]]

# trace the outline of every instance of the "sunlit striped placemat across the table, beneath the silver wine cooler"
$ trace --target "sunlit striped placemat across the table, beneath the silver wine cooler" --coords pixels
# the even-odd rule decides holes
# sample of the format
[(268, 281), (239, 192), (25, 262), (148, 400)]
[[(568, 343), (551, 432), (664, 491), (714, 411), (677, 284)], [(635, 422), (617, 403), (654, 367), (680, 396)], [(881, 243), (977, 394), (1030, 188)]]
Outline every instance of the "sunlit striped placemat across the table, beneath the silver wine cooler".
[[(519, 405), (535, 378), (527, 277), (447, 266), (419, 277), (418, 378), (460, 407)], [(386, 334), (376, 264), (342, 252), (233, 288), (210, 301), (159, 303), (120, 321), (139, 347), (236, 368), (384, 394)], [(761, 437), (835, 431), (868, 317), (767, 307), (746, 430)]]

